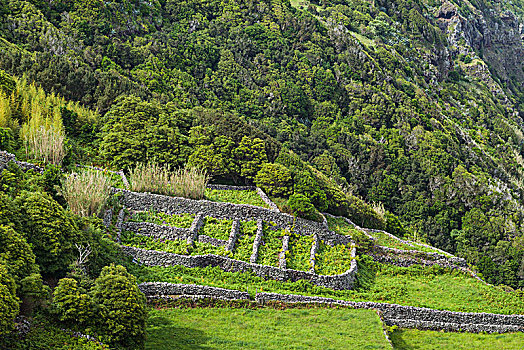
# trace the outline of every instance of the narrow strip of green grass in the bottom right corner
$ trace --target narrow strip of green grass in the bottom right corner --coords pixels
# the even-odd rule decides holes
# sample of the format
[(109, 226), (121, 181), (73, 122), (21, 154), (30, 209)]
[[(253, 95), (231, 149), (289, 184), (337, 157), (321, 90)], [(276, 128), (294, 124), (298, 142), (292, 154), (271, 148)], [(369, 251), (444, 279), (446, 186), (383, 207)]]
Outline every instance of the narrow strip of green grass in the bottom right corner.
[(397, 329), (390, 334), (395, 349), (504, 349), (524, 348), (524, 333), (474, 334)]

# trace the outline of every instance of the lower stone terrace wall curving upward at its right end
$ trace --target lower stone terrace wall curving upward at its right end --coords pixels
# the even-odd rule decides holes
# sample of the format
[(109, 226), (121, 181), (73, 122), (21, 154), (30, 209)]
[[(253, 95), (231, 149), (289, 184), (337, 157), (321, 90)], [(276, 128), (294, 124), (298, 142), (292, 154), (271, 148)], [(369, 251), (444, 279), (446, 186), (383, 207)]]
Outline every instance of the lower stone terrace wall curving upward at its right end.
[[(351, 289), (353, 287), (358, 269), (357, 262), (353, 259), (351, 261), (351, 268), (347, 272), (340, 275), (322, 276), (311, 272), (253, 264), (212, 254), (187, 256), (128, 246), (122, 246), (122, 250), (146, 266), (182, 265), (190, 268), (218, 266), (224, 271), (253, 272), (259, 277), (279, 281), (307, 280), (317, 286), (339, 290)], [(354, 254), (355, 251), (354, 249), (352, 254)]]

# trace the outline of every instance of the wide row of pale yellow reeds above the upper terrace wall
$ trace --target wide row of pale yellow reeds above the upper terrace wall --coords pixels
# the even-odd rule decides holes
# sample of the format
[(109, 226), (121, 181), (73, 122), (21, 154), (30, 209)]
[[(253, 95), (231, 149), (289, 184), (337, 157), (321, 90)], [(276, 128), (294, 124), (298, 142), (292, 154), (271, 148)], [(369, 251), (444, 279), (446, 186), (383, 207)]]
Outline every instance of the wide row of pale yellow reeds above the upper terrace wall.
[(137, 164), (129, 174), (129, 180), (133, 191), (202, 199), (209, 177), (200, 168), (171, 170), (169, 166), (149, 162)]

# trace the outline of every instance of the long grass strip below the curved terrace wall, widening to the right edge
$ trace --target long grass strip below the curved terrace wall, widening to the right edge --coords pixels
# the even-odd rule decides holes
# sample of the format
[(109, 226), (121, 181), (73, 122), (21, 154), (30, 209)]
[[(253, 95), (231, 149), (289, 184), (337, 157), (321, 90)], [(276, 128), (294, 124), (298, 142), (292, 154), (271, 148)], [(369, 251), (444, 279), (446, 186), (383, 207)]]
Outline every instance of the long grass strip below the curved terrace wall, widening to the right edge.
[(401, 268), (378, 264), (377, 270), (359, 263), (357, 290), (332, 290), (307, 281), (265, 280), (252, 273), (225, 272), (218, 267), (186, 268), (129, 266), (141, 282), (194, 283), (283, 294), (303, 294), (344, 300), (375, 301), (463, 312), (524, 314), (524, 296), (442, 268)]

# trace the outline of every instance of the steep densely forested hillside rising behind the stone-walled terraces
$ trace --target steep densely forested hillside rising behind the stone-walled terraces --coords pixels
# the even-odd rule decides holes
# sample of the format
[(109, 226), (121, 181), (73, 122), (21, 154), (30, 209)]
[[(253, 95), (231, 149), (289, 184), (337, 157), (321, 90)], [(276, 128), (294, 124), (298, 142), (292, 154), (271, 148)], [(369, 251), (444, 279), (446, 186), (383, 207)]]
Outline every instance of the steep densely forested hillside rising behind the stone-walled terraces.
[(0, 68), (98, 111), (61, 113), (71, 163), (156, 158), (237, 183), (276, 163), (275, 196), (379, 228), (388, 220), (357, 197), (383, 203), (406, 234), (522, 287), (520, 2), (3, 0), (0, 12)]

